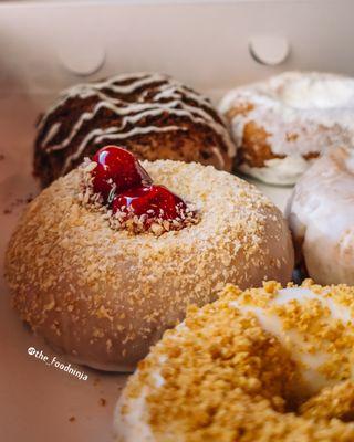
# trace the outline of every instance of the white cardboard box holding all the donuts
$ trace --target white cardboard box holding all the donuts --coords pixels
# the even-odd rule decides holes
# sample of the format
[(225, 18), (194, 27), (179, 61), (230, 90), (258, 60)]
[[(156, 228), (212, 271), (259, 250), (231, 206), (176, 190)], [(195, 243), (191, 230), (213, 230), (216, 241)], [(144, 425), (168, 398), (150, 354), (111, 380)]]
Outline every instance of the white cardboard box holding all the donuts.
[[(351, 0), (166, 3), (0, 4), (1, 267), (23, 200), (38, 191), (31, 176), (35, 119), (62, 87), (117, 72), (160, 71), (217, 99), (229, 87), (283, 70), (354, 74)], [(289, 54), (279, 65), (259, 64), (249, 51), (254, 41), (262, 60)], [(262, 188), (284, 207), (289, 189)], [(88, 376), (84, 381), (30, 356), (29, 347), (54, 354), (11, 311), (2, 278), (0, 292), (1, 441), (110, 441), (125, 377), (79, 368)]]

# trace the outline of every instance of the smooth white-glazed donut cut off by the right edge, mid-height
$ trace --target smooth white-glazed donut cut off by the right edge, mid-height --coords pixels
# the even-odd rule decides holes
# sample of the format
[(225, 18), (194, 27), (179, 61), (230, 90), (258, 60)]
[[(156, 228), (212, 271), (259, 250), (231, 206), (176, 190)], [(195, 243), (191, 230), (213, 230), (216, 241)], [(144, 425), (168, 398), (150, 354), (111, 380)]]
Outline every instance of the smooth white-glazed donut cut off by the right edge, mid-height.
[(319, 284), (354, 285), (354, 151), (337, 148), (298, 181), (287, 207), (298, 262)]

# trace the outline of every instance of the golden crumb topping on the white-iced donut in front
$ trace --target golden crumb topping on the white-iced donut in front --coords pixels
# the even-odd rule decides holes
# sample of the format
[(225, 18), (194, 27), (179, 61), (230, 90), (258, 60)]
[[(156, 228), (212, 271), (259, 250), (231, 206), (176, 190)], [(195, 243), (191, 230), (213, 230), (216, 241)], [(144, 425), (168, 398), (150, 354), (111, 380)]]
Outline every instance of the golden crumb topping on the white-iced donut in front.
[[(353, 441), (354, 424), (347, 423), (353, 420), (352, 381), (324, 388), (299, 406), (301, 368), (292, 354), (253, 315), (233, 305), (239, 299), (241, 305), (268, 305), (279, 288), (274, 282), (246, 292), (229, 285), (217, 302), (201, 309), (190, 307), (183, 325), (165, 333), (131, 378), (123, 418), (143, 394), (144, 419), (156, 441)], [(354, 288), (311, 285), (311, 290), (350, 308), (354, 305)], [(316, 330), (319, 324), (310, 325), (327, 312), (320, 313), (311, 303), (308, 313), (293, 303), (280, 311), (289, 317), (287, 326), (301, 329), (310, 340), (314, 333), (321, 345), (324, 333), (333, 344), (331, 351), (352, 348), (339, 340), (343, 327), (337, 322), (331, 328), (333, 336), (329, 329)]]

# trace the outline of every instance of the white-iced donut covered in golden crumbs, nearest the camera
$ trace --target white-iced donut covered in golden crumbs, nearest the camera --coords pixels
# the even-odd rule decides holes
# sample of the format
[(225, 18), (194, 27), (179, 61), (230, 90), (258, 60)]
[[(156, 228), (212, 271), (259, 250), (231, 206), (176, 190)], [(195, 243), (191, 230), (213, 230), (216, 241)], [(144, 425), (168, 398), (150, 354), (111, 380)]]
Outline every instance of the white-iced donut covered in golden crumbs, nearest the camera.
[(116, 440), (353, 441), (353, 287), (228, 285), (139, 362)]

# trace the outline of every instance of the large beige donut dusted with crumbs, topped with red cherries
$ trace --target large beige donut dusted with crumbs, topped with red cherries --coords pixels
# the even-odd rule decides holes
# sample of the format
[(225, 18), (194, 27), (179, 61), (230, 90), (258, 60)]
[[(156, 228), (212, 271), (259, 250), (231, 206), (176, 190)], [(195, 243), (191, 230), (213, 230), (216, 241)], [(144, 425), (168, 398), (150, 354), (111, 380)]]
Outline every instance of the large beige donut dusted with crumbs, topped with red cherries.
[(226, 282), (290, 281), (293, 249), (280, 211), (246, 181), (122, 151), (103, 148), (29, 204), (6, 278), (21, 318), (56, 351), (129, 371), (187, 305), (215, 299)]

